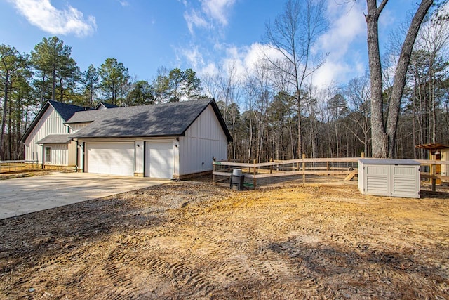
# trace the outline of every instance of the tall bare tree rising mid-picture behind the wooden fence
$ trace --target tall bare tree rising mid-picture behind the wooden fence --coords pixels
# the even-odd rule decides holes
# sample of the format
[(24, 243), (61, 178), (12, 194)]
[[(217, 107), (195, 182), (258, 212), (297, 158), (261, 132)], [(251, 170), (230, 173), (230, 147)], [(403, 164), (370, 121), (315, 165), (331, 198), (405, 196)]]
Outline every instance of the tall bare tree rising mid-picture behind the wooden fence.
[(297, 156), (302, 155), (302, 89), (307, 79), (324, 63), (321, 54), (313, 54), (311, 48), (328, 28), (326, 7), (323, 0), (288, 0), (283, 13), (274, 22), (268, 22), (266, 40), (270, 48), (281, 58), (266, 54), (273, 72), (283, 73), (296, 98), (297, 108)]

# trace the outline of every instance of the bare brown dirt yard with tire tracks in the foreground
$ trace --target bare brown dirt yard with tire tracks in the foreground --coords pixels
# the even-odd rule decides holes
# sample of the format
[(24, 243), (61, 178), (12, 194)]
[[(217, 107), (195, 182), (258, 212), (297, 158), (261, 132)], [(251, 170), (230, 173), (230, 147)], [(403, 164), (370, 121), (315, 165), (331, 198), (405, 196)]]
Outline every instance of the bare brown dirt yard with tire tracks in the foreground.
[(447, 195), (182, 181), (0, 220), (0, 299), (449, 299)]

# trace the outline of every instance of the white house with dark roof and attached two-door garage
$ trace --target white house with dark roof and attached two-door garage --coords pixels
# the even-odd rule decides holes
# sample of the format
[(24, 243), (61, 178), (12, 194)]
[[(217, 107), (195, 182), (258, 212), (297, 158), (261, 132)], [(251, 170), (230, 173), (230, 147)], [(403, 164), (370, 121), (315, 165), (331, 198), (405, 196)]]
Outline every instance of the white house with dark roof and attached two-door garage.
[[(211, 171), (213, 159), (227, 159), (232, 138), (213, 99), (98, 108), (79, 107), (62, 122), (60, 132), (48, 131), (43, 126), (49, 122), (48, 113), (39, 112), (39, 121), (22, 138), (25, 148), (36, 144), (37, 159), (42, 157), (39, 162), (45, 164), (72, 163), (79, 171), (153, 178)], [(52, 160), (60, 148), (67, 160)], [(25, 151), (25, 159), (32, 159), (29, 153)]]

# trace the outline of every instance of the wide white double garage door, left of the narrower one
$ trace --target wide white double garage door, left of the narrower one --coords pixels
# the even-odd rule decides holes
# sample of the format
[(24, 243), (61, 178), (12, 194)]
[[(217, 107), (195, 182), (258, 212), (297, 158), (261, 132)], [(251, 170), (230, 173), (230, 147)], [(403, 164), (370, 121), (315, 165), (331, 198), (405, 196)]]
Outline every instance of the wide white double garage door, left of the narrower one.
[(134, 143), (86, 143), (89, 173), (134, 175)]

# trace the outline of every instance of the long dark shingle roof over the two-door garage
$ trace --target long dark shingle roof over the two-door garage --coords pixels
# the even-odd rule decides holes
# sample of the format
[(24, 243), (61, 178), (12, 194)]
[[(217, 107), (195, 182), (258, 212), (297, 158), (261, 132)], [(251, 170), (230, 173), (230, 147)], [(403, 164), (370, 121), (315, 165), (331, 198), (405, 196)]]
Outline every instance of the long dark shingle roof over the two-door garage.
[(67, 124), (92, 122), (71, 138), (183, 136), (208, 105), (213, 107), (228, 141), (232, 141), (213, 99), (76, 112)]

